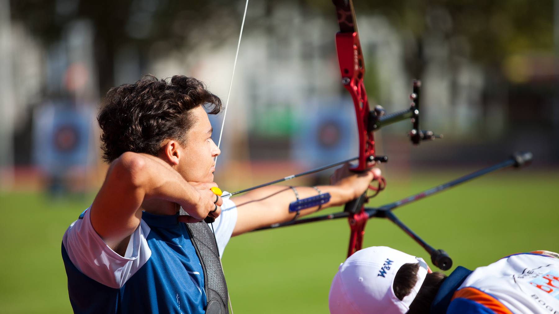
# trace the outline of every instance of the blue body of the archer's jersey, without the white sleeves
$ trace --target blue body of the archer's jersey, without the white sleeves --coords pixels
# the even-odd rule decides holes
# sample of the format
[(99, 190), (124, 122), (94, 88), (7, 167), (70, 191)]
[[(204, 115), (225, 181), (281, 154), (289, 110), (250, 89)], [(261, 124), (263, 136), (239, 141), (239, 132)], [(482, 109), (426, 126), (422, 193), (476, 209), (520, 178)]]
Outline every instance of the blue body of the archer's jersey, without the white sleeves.
[(203, 269), (190, 235), (177, 215), (143, 212), (151, 250), (120, 288), (95, 281), (75, 267), (62, 245), (68, 294), (75, 313), (205, 313)]

